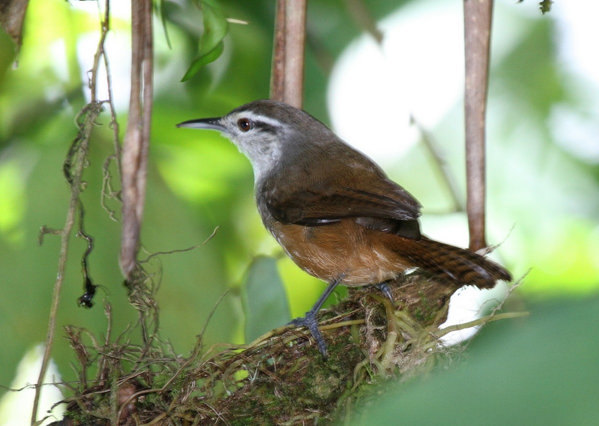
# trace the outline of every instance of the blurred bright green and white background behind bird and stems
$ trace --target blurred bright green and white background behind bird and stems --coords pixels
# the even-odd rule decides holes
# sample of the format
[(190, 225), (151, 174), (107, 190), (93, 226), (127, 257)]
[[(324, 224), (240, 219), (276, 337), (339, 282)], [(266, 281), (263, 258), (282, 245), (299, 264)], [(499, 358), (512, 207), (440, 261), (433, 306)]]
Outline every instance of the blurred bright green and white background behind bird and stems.
[[(113, 3), (106, 52), (123, 133), (129, 2)], [(310, 2), (304, 109), (379, 162), (420, 200), (426, 234), (465, 246), (465, 214), (447, 213), (452, 204), (446, 183), (421, 141), (422, 131), (432, 136), (463, 194), (462, 2), (365, 3), (383, 32), (381, 44), (356, 23), (349, 2)], [(205, 340), (207, 345), (243, 342), (247, 269), (257, 255), (281, 251), (256, 213), (249, 162), (216, 132), (174, 127), (268, 97), (273, 2), (219, 4), (227, 16), (247, 25), (231, 24), (223, 56), (186, 83), (179, 81), (196, 53), (201, 13), (193, 2), (164, 2), (171, 49), (161, 21), (155, 20), (144, 250), (193, 246), (220, 226), (201, 248), (161, 256), (153, 264), (162, 271), (156, 296), (162, 337), (183, 355), (228, 288), (233, 291), (216, 308)], [(599, 5), (588, 1), (557, 0), (544, 16), (535, 1), (496, 2), (488, 105), (488, 240), (503, 241), (494, 256), (516, 277), (530, 270), (518, 290), (524, 303), (595, 298), (599, 289), (598, 14)], [(89, 100), (87, 71), (98, 28), (95, 2), (31, 0), (18, 58), (10, 38), (0, 33), (2, 385), (11, 383), (19, 360), (38, 351), (46, 335), (59, 238), (46, 235), (39, 246), (38, 231), (43, 225), (60, 228), (65, 221), (69, 193), (62, 162), (75, 136), (74, 116)], [(102, 164), (111, 153), (108, 122), (104, 114), (93, 132), (82, 197), (85, 228), (95, 238), (90, 274), (102, 289), (93, 309), (77, 307), (85, 244), (73, 238), (58, 318), (59, 327), (74, 324), (96, 336), (107, 327), (103, 300), (113, 307), (115, 335), (137, 318), (126, 302), (117, 264), (119, 223), (100, 204)], [(119, 209), (117, 203), (109, 205)], [(323, 284), (286, 258), (280, 257), (277, 267), (291, 315), (302, 315)], [(58, 333), (54, 359), (62, 378), (72, 380), (74, 356), (60, 338), (62, 330)]]

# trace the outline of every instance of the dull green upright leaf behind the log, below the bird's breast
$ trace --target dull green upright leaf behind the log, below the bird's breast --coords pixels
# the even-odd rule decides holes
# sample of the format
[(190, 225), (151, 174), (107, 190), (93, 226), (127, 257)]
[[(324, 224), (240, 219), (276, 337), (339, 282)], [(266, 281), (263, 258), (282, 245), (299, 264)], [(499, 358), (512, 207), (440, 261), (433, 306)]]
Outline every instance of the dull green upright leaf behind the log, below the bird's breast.
[(274, 258), (260, 256), (247, 270), (241, 290), (246, 342), (289, 322), (289, 304)]

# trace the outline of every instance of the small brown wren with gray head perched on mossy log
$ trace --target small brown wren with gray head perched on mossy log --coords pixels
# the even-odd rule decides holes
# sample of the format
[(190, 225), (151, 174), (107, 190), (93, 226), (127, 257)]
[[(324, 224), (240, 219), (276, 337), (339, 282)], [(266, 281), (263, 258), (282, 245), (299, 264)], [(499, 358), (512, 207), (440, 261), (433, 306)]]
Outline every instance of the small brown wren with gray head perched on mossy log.
[(338, 284), (377, 285), (421, 268), (456, 287), (511, 280), (500, 265), (420, 234), (420, 204), (367, 156), (319, 120), (283, 102), (260, 100), (226, 116), (177, 127), (214, 129), (252, 163), (262, 222), (293, 261), (329, 283), (303, 318), (326, 356), (316, 315)]

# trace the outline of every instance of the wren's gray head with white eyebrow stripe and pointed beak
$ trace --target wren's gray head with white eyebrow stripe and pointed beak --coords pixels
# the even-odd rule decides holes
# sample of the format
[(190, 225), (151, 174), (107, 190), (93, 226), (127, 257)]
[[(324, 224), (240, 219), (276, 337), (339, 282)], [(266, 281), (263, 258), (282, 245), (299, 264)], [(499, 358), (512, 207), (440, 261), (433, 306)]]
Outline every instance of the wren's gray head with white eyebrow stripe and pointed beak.
[(249, 158), (256, 181), (280, 164), (282, 158), (301, 155), (306, 143), (336, 138), (304, 111), (270, 99), (241, 105), (223, 117), (189, 120), (177, 127), (222, 132)]

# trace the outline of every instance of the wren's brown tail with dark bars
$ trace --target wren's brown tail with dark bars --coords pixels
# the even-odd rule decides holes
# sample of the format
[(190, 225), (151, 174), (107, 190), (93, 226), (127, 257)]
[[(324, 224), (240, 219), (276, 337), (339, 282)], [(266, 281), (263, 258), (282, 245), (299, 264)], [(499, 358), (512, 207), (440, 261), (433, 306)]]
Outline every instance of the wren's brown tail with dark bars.
[(492, 288), (497, 280), (511, 281), (512, 275), (501, 265), (470, 250), (422, 237), (408, 240), (402, 255), (419, 268), (443, 276), (459, 285)]

